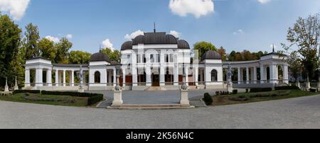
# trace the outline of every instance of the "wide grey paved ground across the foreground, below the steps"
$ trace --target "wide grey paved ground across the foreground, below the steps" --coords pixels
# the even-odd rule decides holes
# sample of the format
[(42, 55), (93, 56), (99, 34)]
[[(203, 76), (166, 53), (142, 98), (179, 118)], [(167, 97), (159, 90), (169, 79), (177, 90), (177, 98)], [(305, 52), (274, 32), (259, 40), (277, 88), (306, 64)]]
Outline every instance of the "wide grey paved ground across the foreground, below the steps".
[(0, 101), (0, 128), (320, 128), (320, 96), (183, 110), (106, 110)]

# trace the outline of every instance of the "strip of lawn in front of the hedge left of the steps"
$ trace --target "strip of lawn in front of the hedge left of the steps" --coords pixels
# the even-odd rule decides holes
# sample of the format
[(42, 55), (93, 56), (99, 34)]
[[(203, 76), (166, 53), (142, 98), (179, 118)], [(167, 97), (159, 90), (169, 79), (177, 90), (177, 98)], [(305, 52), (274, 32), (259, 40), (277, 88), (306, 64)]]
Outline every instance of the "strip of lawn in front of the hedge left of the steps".
[(30, 93), (30, 96), (26, 99), (25, 93), (17, 93), (14, 96), (0, 96), (0, 101), (12, 101), (21, 103), (37, 103), (47, 105), (65, 105), (65, 106), (87, 106), (87, 97), (75, 97), (75, 96), (53, 96), (53, 95), (41, 95)]

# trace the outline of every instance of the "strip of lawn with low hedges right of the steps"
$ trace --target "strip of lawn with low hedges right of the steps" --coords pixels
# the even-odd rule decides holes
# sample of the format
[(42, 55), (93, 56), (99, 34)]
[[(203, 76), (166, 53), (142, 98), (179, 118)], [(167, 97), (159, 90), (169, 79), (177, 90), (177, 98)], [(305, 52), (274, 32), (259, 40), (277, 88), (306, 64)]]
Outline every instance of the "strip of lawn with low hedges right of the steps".
[[(270, 92), (279, 92), (279, 91), (270, 91)], [(229, 97), (233, 96), (249, 96), (250, 93), (238, 93), (235, 95), (230, 96), (213, 96), (213, 105), (231, 105), (231, 104), (239, 104), (239, 103), (252, 103), (252, 102), (260, 102), (260, 101), (272, 101), (272, 100), (279, 100), (279, 99), (286, 99), (286, 98), (297, 98), (303, 96), (314, 96), (318, 95), (319, 93), (309, 92), (309, 91), (299, 91), (299, 90), (292, 90), (291, 93), (287, 96), (277, 96), (277, 97), (256, 97), (250, 98), (248, 101), (231, 101)]]

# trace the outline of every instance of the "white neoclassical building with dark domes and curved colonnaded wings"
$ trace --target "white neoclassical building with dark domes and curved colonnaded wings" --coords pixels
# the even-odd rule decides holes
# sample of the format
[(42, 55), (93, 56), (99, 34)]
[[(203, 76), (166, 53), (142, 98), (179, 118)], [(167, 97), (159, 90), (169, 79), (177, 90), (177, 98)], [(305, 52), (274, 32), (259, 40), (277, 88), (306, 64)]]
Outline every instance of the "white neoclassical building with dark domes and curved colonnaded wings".
[(85, 90), (112, 90), (119, 69), (119, 84), (124, 90), (176, 90), (182, 84), (184, 68), (189, 88), (223, 89), (228, 67), (234, 71), (234, 88), (274, 87), (289, 82), (288, 64), (276, 52), (245, 62), (222, 62), (215, 51), (198, 59), (186, 40), (154, 32), (124, 42), (120, 63), (110, 61), (101, 52), (93, 54), (89, 64), (54, 64), (42, 57), (28, 59), (25, 88), (78, 90), (78, 73), (82, 69), (87, 75), (83, 81)]

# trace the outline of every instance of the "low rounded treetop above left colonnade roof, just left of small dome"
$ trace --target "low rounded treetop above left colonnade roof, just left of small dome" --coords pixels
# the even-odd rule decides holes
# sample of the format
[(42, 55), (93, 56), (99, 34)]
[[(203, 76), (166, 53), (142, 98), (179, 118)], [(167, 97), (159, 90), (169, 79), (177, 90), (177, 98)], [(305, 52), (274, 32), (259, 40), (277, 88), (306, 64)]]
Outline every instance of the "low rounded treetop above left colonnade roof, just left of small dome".
[(89, 64), (91, 54), (83, 51), (71, 51), (69, 54), (70, 64)]

